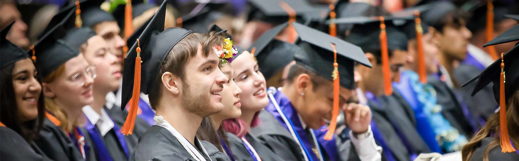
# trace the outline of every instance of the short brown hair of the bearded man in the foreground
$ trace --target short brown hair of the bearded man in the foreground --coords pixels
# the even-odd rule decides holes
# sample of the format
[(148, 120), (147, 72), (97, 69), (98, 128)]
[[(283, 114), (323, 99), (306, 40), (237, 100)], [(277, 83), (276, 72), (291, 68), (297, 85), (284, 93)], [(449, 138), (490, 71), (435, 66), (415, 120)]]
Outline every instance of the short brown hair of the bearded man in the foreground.
[(198, 46), (201, 45), (202, 47), (202, 56), (207, 57), (209, 53), (213, 52), (213, 46), (221, 44), (224, 39), (225, 37), (222, 34), (216, 34), (215, 32), (209, 34), (192, 33), (173, 46), (173, 49), (162, 62), (162, 68), (155, 76), (154, 83), (149, 88), (149, 104), (152, 109), (155, 110), (162, 96), (161, 77), (163, 73), (171, 72), (184, 80), (186, 63), (197, 55)]

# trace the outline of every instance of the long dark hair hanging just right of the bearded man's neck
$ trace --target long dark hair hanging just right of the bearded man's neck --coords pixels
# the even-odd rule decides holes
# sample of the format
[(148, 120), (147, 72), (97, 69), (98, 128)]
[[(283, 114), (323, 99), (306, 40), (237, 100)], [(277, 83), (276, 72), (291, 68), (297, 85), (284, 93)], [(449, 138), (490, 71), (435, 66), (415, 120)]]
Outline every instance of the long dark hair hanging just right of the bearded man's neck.
[[(220, 152), (224, 152), (222, 149), (222, 139), (224, 140), (225, 144), (229, 144), (227, 135), (225, 134), (222, 126), (220, 126), (218, 130), (214, 130), (210, 117), (205, 117), (202, 119), (202, 123), (200, 123), (200, 127), (198, 127), (196, 132), (196, 137), (200, 140), (211, 142), (216, 148), (218, 148), (218, 150), (220, 150)], [(220, 137), (222, 137), (222, 139), (220, 139)]]

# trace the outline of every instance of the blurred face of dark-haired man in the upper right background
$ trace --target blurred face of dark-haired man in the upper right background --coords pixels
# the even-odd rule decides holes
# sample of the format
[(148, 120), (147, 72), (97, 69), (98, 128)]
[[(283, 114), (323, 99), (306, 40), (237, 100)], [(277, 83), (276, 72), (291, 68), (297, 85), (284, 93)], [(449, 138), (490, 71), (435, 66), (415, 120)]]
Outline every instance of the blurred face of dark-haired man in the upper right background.
[(439, 42), (440, 51), (446, 56), (455, 60), (463, 60), (467, 56), (467, 45), (472, 37), (470, 30), (465, 27), (465, 23), (459, 26), (446, 25), (442, 33), (437, 33), (436, 38)]

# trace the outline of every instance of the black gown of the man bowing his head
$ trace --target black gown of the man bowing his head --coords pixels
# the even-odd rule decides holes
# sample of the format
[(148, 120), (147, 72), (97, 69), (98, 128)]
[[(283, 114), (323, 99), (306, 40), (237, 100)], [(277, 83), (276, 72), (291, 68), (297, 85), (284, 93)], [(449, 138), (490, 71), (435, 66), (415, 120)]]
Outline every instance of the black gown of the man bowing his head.
[[(301, 148), (292, 138), (290, 132), (285, 130), (285, 127), (272, 114), (263, 110), (259, 117), (262, 123), (251, 128), (251, 134), (256, 137), (258, 142), (264, 144), (282, 160), (305, 160)], [(329, 160), (324, 149), (319, 148), (321, 148), (324, 160)], [(337, 154), (339, 160), (360, 160), (350, 141), (344, 141), (337, 145)]]

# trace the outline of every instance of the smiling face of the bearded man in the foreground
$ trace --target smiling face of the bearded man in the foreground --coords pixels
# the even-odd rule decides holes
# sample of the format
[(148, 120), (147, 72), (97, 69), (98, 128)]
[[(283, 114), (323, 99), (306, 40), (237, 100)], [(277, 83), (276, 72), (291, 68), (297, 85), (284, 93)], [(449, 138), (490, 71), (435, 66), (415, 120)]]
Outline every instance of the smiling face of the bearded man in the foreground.
[(181, 97), (184, 108), (207, 117), (224, 108), (221, 92), (229, 78), (218, 68), (220, 60), (213, 51), (204, 57), (201, 48), (199, 45), (197, 55), (185, 65)]

